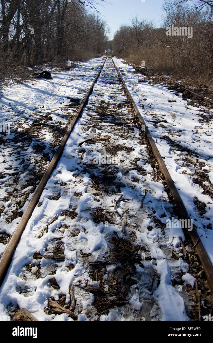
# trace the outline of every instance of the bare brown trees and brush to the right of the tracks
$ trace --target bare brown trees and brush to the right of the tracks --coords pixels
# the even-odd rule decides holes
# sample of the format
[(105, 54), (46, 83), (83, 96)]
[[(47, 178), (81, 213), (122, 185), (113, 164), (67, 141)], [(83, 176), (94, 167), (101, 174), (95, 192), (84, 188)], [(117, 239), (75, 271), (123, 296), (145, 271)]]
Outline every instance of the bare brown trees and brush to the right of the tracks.
[[(161, 27), (152, 21), (131, 19), (118, 29), (113, 50), (137, 64), (158, 72), (211, 80), (213, 77), (213, 1), (165, 0)], [(166, 35), (166, 27), (182, 27), (193, 35)]]

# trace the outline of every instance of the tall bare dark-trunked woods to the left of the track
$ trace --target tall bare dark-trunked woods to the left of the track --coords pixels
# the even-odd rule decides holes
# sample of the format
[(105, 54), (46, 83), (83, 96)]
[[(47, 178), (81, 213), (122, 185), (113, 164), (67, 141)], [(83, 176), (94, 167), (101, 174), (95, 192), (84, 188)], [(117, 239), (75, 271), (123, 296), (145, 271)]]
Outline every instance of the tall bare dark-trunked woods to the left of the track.
[(99, 54), (107, 40), (106, 23), (95, 11), (101, 2), (1, 0), (1, 78), (21, 66)]

